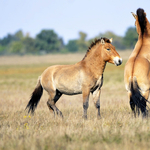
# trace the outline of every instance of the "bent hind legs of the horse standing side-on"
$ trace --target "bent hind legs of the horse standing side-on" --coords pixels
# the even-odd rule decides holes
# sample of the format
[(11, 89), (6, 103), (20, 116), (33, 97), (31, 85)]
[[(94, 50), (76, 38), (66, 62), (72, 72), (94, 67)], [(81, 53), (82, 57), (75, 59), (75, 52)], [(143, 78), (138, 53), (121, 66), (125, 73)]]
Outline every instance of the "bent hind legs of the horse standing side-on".
[(47, 106), (50, 111), (54, 112), (54, 116), (60, 115), (63, 117), (62, 112), (56, 107), (55, 103), (58, 101), (58, 99), (61, 97), (62, 93), (60, 93), (58, 90), (53, 91), (49, 94), (49, 99), (47, 101)]

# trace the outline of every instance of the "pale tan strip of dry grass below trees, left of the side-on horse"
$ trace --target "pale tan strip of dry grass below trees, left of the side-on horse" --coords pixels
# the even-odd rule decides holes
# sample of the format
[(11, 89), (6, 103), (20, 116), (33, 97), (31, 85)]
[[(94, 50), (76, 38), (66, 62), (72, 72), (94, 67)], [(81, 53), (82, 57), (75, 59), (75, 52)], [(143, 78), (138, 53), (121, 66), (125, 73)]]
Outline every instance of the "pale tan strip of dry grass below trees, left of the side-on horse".
[(2, 56), (0, 57), (0, 65), (31, 65), (31, 64), (56, 64), (77, 62), (83, 58), (85, 54), (57, 54), (57, 55), (29, 55), (29, 56)]

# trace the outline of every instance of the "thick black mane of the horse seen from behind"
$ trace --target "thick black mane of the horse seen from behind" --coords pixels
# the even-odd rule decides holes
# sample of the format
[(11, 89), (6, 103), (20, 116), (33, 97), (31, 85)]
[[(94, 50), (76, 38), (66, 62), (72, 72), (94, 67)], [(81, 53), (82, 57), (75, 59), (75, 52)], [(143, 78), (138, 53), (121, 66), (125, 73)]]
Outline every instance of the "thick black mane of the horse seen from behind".
[(142, 32), (142, 35), (143, 35), (144, 32), (147, 32), (146, 14), (144, 13), (144, 10), (141, 9), (141, 8), (137, 9), (136, 13), (137, 13), (137, 16), (138, 16), (139, 25), (140, 25), (141, 32)]

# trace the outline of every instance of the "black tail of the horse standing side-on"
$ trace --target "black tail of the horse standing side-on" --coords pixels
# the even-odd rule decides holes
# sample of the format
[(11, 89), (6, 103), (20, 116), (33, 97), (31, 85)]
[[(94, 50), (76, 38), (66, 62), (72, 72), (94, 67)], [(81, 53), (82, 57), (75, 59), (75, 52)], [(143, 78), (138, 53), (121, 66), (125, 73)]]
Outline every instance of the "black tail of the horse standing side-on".
[(39, 77), (37, 85), (31, 95), (30, 101), (28, 102), (28, 105), (26, 106), (26, 109), (28, 109), (28, 113), (30, 113), (30, 111), (31, 113), (34, 113), (35, 108), (37, 107), (42, 94), (43, 94), (43, 87), (41, 85), (40, 77)]

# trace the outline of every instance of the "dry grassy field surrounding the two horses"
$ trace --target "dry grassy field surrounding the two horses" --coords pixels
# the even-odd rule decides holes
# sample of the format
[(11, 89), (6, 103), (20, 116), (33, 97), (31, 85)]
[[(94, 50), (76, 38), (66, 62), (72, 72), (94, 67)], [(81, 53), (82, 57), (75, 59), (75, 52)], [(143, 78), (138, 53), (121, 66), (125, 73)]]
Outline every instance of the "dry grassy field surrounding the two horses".
[(34, 116), (24, 109), (38, 76), (53, 64), (73, 64), (84, 54), (0, 57), (0, 150), (143, 150), (150, 149), (150, 119), (131, 114), (123, 82), (131, 51), (119, 52), (121, 66), (107, 64), (101, 92), (101, 119), (90, 97), (82, 119), (82, 95), (57, 102), (64, 119), (55, 118), (44, 92)]

